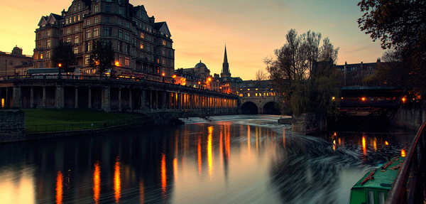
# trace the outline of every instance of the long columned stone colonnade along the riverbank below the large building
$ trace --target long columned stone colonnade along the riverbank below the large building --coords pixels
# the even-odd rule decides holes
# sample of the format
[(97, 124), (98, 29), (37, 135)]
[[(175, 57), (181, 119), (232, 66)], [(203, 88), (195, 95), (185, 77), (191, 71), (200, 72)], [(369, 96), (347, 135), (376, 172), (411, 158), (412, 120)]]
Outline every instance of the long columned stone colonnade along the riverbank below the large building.
[[(3, 108), (236, 114), (239, 99), (152, 80), (89, 75), (17, 75), (0, 80)], [(183, 114), (185, 115), (185, 114)]]

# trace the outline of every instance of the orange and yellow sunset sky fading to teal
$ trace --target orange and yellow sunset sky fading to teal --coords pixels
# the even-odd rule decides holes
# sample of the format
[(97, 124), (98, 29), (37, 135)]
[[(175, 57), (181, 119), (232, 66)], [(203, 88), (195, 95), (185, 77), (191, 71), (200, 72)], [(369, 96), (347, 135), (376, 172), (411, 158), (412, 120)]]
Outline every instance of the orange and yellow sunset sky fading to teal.
[[(16, 45), (33, 55), (41, 16), (67, 11), (72, 0), (0, 0), (0, 50)], [(193, 68), (202, 60), (210, 73), (221, 73), (224, 48), (232, 77), (254, 80), (255, 73), (285, 44), (292, 28), (328, 37), (339, 47), (337, 64), (373, 63), (384, 50), (362, 32), (356, 20), (359, 0), (130, 0), (143, 5), (155, 22), (166, 21), (175, 49), (175, 69)]]

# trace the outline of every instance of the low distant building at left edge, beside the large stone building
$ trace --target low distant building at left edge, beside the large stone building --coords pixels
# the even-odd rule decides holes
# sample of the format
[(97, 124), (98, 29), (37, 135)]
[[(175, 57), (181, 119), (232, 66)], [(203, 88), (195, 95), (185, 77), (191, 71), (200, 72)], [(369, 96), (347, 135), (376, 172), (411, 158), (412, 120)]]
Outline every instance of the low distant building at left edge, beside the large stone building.
[(16, 46), (11, 53), (0, 51), (0, 77), (24, 75), (28, 68), (33, 68), (33, 56), (23, 55), (22, 48)]

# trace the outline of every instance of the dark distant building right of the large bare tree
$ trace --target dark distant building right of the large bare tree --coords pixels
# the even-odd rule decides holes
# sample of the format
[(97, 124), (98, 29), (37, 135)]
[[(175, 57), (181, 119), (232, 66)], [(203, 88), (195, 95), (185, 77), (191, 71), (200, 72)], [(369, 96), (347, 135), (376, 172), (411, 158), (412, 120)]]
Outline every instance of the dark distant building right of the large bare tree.
[(361, 85), (362, 80), (365, 77), (374, 75), (374, 70), (376, 70), (378, 63), (381, 63), (380, 59), (376, 63), (357, 63), (357, 64), (348, 64), (337, 65), (337, 69), (341, 70), (344, 73), (342, 78), (342, 85), (352, 86), (352, 85)]

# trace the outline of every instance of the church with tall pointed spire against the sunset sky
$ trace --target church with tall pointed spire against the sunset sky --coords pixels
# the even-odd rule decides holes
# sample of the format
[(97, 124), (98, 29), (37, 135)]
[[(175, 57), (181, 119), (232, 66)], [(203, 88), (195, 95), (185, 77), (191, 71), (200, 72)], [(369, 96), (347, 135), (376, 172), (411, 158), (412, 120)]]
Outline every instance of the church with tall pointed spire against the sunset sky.
[(226, 55), (226, 45), (224, 54), (224, 63), (222, 64), (222, 73), (214, 74), (212, 79), (212, 90), (228, 94), (238, 95), (240, 84), (243, 80), (240, 77), (231, 77), (229, 71), (228, 55)]

